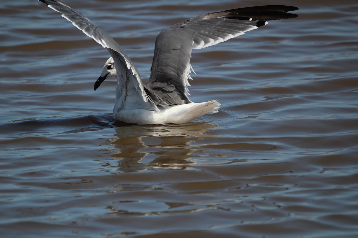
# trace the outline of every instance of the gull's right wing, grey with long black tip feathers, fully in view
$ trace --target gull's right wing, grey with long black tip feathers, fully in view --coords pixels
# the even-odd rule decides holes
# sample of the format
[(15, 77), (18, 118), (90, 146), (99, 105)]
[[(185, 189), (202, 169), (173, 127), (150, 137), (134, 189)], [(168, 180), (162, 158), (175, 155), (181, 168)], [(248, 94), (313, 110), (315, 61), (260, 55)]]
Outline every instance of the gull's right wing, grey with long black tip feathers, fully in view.
[(176, 24), (156, 38), (149, 86), (169, 105), (190, 103), (188, 79), (192, 49), (227, 41), (266, 25), (267, 20), (289, 19), (292, 6), (256, 6), (213, 12)]

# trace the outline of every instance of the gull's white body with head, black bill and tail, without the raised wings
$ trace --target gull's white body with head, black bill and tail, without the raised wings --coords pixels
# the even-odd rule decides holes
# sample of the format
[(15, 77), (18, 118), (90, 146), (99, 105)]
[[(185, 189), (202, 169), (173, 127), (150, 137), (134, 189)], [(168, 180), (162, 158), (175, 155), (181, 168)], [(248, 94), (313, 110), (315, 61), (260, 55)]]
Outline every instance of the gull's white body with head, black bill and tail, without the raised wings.
[[(116, 102), (113, 108), (113, 116), (117, 121), (135, 124), (182, 124), (205, 114), (218, 112), (220, 103), (216, 100), (200, 103), (191, 101), (190, 103), (185, 103), (182, 100), (181, 103), (176, 105), (169, 105), (168, 101), (168, 103), (165, 102), (163, 98), (157, 95), (157, 93), (159, 94), (158, 91), (143, 85), (144, 92), (148, 95), (148, 101), (145, 102), (138, 93), (138, 86), (133, 83), (134, 81), (121, 80), (121, 77), (117, 76), (117, 70), (113, 65), (114, 61), (111, 57), (103, 66), (102, 75), (95, 83), (95, 89), (106, 77), (117, 77)], [(153, 105), (157, 106), (157, 111), (154, 110)]]

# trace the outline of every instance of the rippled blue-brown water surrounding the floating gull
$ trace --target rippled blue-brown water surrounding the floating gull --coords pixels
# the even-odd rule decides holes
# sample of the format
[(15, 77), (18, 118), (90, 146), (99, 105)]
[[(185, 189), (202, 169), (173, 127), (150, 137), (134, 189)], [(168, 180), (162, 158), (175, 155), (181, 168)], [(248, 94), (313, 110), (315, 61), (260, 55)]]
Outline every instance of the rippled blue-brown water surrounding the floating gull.
[[(146, 81), (156, 35), (262, 1), (65, 1)], [(275, 1), (270, 4), (287, 4)], [(356, 1), (194, 51), (184, 125), (115, 122), (109, 54), (35, 0), (1, 3), (1, 237), (357, 237)]]

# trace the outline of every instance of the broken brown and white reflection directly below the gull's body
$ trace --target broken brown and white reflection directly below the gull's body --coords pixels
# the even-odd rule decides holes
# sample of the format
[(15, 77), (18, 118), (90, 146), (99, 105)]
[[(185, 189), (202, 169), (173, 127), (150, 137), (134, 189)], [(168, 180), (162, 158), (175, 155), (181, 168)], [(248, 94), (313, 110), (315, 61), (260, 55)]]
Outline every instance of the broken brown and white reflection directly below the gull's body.
[[(187, 123), (184, 125), (148, 125), (116, 128), (118, 138), (109, 139), (110, 153), (118, 162), (121, 172), (145, 169), (186, 169), (196, 151), (192, 146), (206, 137), (218, 125)], [(137, 134), (137, 135), (136, 135)], [(143, 152), (145, 149), (146, 152)]]

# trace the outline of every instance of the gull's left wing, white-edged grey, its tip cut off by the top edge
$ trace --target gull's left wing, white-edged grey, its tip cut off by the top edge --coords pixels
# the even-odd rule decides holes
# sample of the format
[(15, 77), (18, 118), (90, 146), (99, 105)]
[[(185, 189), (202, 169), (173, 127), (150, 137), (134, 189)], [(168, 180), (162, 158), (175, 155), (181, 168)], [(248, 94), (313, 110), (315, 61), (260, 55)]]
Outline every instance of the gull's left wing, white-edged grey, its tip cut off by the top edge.
[[(51, 9), (62, 13), (62, 16), (67, 20), (71, 21), (74, 26), (76, 26), (79, 30), (83, 31), (84, 34), (92, 37), (95, 41), (103, 46), (103, 48), (107, 48), (110, 52), (114, 62), (116, 69), (125, 69), (125, 71), (117, 72), (117, 77), (122, 77), (123, 80), (132, 80), (136, 91), (142, 97), (144, 102), (149, 102), (154, 107), (155, 110), (158, 110), (156, 107), (156, 103), (153, 100), (158, 98), (150, 98), (147, 94), (148, 88), (145, 88), (141, 79), (139, 72), (129, 57), (126, 55), (124, 50), (117, 42), (106, 32), (100, 29), (98, 26), (93, 25), (92, 22), (79, 14), (77, 11), (73, 10), (71, 7), (62, 3), (58, 0), (39, 0), (48, 5)], [(150, 90), (149, 90), (150, 91)], [(161, 101), (158, 99), (157, 101)]]

